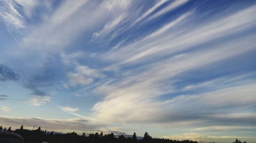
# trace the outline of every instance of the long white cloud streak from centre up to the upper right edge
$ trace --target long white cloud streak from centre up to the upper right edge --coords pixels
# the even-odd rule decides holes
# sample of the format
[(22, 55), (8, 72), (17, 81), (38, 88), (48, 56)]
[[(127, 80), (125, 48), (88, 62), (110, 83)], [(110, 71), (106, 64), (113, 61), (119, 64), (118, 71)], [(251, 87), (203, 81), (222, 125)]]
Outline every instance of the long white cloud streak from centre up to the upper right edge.
[[(117, 62), (118, 65), (138, 64), (145, 61), (151, 62), (153, 57), (155, 61), (158, 61), (158, 58), (161, 59), (163, 56), (173, 55), (177, 52), (200, 46), (209, 41), (214, 41), (217, 38), (224, 38), (252, 28), (253, 23), (256, 20), (255, 17), (253, 17), (254, 12), (255, 6), (251, 6), (231, 15), (225, 15), (218, 20), (207, 20), (203, 26), (193, 27), (191, 29), (189, 28), (189, 25), (183, 25), (183, 23), (179, 25), (179, 27), (182, 28), (175, 28), (176, 30), (169, 31), (168, 33), (172, 33), (171, 35), (168, 33), (164, 35), (163, 33), (158, 35), (158, 37), (154, 37), (154, 40), (142, 39), (135, 43), (120, 47), (113, 52), (103, 54), (102, 58), (104, 60)], [(185, 15), (183, 15), (183, 17), (184, 16)], [(177, 22), (178, 21), (179, 20), (177, 20)], [(232, 21), (233, 24), (230, 24), (230, 21)], [(188, 22), (189, 20), (186, 21), (186, 23)], [(169, 25), (172, 25), (172, 23), (174, 22), (170, 21)], [(177, 25), (173, 25), (173, 28), (176, 26)], [(184, 30), (183, 27), (186, 26), (187, 28)], [(158, 31), (155, 33), (158, 33)]]

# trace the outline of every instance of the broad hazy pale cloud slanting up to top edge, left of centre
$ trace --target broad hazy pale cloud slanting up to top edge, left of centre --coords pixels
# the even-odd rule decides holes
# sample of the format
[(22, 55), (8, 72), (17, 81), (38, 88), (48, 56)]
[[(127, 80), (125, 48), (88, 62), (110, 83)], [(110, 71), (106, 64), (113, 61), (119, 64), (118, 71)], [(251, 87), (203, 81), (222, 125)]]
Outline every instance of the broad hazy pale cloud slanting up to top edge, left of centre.
[(40, 25), (24, 36), (22, 47), (25, 52), (17, 54), (26, 55), (27, 51), (36, 53), (40, 51), (41, 54), (49, 51), (58, 53), (68, 48), (76, 37), (91, 31), (91, 27), (97, 25), (110, 11), (99, 2), (90, 2), (90, 5), (88, 1), (60, 3), (51, 15), (46, 16)]

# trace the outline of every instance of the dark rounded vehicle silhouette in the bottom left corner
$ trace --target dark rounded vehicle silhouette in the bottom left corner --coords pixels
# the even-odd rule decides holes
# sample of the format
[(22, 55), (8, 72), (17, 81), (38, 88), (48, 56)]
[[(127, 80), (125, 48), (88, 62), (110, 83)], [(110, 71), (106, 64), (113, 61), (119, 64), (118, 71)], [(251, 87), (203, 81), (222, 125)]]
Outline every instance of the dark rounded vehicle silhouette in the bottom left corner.
[(0, 131), (0, 143), (24, 143), (23, 137), (19, 134)]

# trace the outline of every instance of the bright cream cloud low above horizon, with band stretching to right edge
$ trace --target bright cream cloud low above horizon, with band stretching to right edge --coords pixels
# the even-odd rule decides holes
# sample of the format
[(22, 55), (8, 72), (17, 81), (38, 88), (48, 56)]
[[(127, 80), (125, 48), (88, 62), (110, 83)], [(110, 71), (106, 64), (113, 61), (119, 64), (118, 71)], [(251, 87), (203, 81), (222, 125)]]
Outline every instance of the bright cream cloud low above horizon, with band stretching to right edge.
[[(145, 85), (145, 83), (142, 84)], [(217, 124), (225, 124), (232, 121), (232, 123), (248, 125), (254, 119), (251, 117), (253, 116), (251, 112), (248, 112), (251, 115), (249, 117), (241, 116), (232, 119), (227, 118), (232, 117), (228, 115), (220, 118), (213, 115), (215, 113), (223, 113), (223, 111), (230, 109), (236, 114), (243, 108), (246, 110), (245, 107), (254, 108), (254, 104), (256, 103), (253, 97), (253, 94), (256, 92), (253, 89), (254, 86), (254, 84), (238, 85), (199, 95), (181, 95), (165, 101), (154, 100), (158, 94), (161, 94), (155, 88), (140, 89), (141, 85), (138, 84), (135, 84), (135, 87), (129, 88), (117, 87), (118, 90), (113, 89), (113, 92), (110, 92), (104, 101), (94, 105), (94, 116), (96, 119), (104, 119), (106, 122), (113, 121), (117, 123), (175, 123), (205, 120)], [(105, 88), (108, 89), (110, 87)], [(162, 90), (162, 92), (164, 91)], [(180, 105), (186, 106), (181, 107)], [(118, 110), (115, 110), (117, 108)], [(201, 108), (204, 108), (204, 111), (201, 111)], [(240, 122), (242, 120), (246, 122)]]

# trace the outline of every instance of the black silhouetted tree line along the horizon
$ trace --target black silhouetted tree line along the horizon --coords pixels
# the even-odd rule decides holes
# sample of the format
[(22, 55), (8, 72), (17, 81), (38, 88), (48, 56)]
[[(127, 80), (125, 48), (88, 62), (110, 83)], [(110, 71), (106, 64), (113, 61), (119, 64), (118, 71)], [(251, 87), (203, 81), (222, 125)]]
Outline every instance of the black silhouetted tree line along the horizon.
[[(54, 143), (198, 143), (197, 141), (193, 140), (172, 140), (172, 139), (164, 139), (164, 138), (152, 138), (152, 136), (148, 135), (145, 132), (144, 137), (141, 139), (137, 139), (137, 135), (134, 132), (132, 137), (125, 137), (124, 135), (120, 135), (115, 137), (114, 133), (110, 134), (103, 134), (101, 133), (90, 133), (86, 135), (86, 133), (82, 133), (81, 135), (77, 134), (76, 132), (69, 132), (69, 133), (59, 133), (54, 131), (47, 131), (41, 130), (40, 127), (36, 130), (28, 130), (24, 129), (23, 125), (16, 130), (12, 130), (11, 127), (8, 129), (0, 126), (0, 131), (9, 131), (14, 132), (19, 135), (23, 136), (25, 143), (37, 143), (37, 142), (54, 142)], [(214, 143), (214, 142), (212, 142)], [(246, 143), (246, 141), (241, 142), (240, 140), (236, 139), (233, 143)]]

